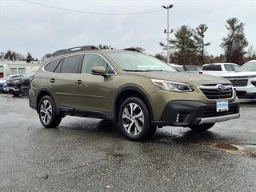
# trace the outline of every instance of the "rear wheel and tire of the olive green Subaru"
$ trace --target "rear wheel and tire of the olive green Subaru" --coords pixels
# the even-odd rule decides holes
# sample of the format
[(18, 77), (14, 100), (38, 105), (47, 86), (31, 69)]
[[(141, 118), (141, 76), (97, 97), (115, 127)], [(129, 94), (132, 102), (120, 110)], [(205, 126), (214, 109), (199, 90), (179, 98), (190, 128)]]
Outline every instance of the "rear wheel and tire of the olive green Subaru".
[(56, 113), (57, 108), (54, 100), (46, 95), (42, 97), (38, 106), (38, 115), (42, 126), (46, 128), (55, 128), (62, 121), (62, 116)]

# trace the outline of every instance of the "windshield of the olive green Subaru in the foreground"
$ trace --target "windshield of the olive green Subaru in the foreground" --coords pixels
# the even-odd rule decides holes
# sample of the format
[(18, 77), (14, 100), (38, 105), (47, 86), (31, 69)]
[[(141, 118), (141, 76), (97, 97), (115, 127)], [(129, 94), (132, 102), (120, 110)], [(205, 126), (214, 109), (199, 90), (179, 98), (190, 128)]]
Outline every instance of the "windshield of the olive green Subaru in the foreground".
[(107, 52), (110, 58), (119, 66), (121, 70), (125, 71), (174, 71), (173, 67), (167, 65), (148, 54), (141, 54), (136, 52)]

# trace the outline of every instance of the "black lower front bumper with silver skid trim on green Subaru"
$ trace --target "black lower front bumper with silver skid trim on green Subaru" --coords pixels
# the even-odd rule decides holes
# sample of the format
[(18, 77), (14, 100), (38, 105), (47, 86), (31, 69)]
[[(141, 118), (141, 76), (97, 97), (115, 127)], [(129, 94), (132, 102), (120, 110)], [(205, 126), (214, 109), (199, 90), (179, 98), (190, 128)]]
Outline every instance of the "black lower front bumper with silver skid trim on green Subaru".
[(236, 99), (229, 103), (229, 110), (217, 112), (216, 105), (196, 101), (171, 101), (166, 104), (156, 126), (196, 126), (204, 123), (224, 122), (239, 118), (239, 102)]

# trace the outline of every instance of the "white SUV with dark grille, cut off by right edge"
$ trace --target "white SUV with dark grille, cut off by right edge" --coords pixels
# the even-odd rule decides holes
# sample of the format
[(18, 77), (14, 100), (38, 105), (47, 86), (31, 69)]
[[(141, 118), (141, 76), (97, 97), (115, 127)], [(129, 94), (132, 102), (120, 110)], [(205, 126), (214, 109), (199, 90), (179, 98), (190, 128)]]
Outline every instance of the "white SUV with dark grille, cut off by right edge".
[(242, 72), (223, 74), (232, 82), (238, 98), (256, 98), (256, 60), (242, 65)]

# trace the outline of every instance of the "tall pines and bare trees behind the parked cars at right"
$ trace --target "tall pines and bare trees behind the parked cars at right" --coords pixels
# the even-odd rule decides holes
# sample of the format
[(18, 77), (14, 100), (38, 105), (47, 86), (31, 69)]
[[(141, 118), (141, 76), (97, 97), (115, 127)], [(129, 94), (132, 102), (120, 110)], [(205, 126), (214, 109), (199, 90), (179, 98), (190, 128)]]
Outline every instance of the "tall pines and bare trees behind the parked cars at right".
[[(245, 23), (238, 18), (226, 20), (227, 34), (222, 38), (220, 46), (223, 54), (213, 56), (207, 53), (206, 48), (210, 42), (205, 41), (205, 34), (208, 30), (206, 24), (201, 24), (195, 29), (190, 26), (180, 26), (174, 31), (174, 38), (170, 39), (170, 61), (177, 64), (202, 65), (211, 62), (234, 62), (242, 65), (250, 59), (256, 59), (256, 51), (251, 45), (248, 51), (248, 41), (244, 34)], [(159, 42), (163, 50), (167, 49), (164, 42)], [(245, 55), (247, 54), (247, 57)], [(156, 54), (157, 58), (166, 61), (162, 54)]]

